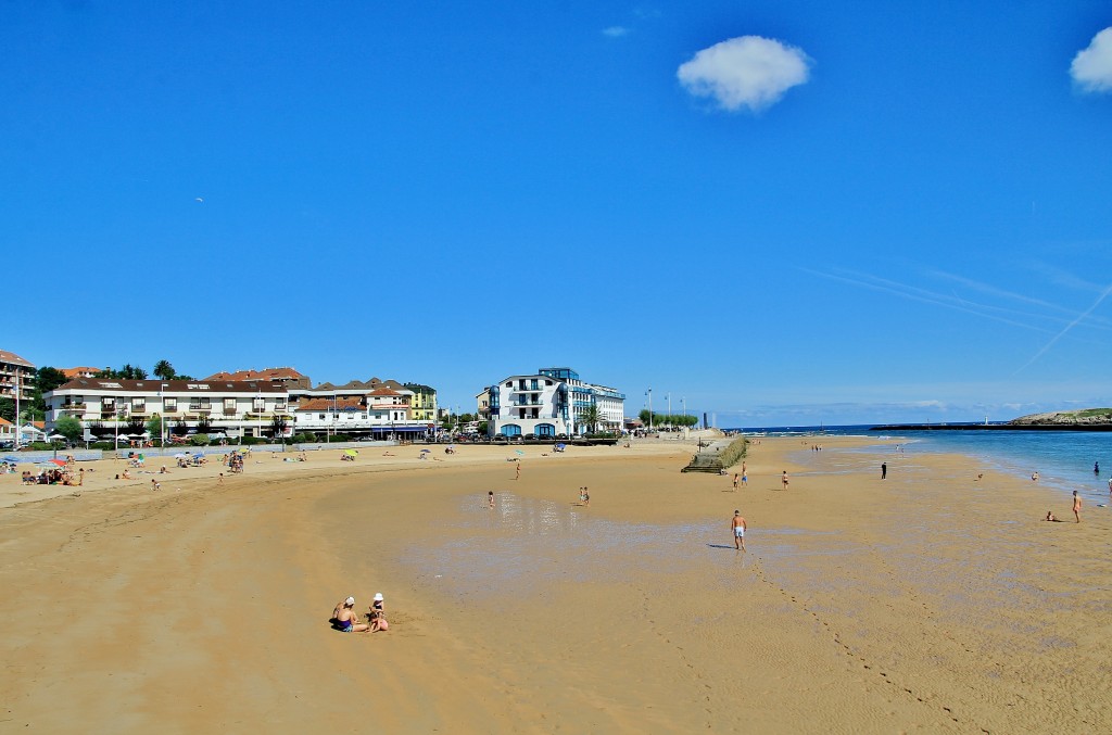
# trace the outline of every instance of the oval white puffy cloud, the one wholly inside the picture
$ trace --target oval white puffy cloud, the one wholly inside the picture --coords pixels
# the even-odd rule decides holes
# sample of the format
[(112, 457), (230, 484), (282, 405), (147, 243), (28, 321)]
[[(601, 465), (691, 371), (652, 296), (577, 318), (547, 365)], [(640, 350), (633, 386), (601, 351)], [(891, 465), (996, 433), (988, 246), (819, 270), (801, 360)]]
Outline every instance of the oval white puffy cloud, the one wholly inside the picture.
[(807, 81), (811, 59), (802, 50), (759, 36), (742, 36), (708, 49), (676, 70), (696, 97), (711, 97), (725, 110), (762, 110), (792, 87)]

